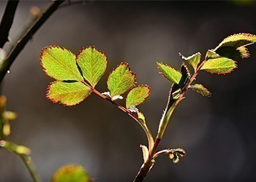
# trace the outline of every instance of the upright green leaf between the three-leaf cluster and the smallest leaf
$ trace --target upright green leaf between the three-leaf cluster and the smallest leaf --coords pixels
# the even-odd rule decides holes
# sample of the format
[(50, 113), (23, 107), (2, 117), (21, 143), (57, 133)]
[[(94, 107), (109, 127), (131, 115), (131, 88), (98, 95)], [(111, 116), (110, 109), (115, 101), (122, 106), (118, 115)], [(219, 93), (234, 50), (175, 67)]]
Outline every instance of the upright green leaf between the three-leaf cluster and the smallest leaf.
[(135, 87), (135, 74), (130, 71), (127, 63), (121, 63), (110, 73), (107, 84), (113, 98)]

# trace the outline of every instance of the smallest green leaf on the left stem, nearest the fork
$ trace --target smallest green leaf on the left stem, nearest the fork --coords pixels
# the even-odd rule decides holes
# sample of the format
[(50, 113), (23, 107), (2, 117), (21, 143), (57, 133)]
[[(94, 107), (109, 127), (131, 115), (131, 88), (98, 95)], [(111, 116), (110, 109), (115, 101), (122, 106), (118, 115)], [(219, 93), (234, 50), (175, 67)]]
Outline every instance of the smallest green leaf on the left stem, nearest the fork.
[(127, 108), (130, 106), (138, 106), (148, 98), (150, 94), (150, 87), (147, 85), (140, 85), (129, 91), (127, 95)]

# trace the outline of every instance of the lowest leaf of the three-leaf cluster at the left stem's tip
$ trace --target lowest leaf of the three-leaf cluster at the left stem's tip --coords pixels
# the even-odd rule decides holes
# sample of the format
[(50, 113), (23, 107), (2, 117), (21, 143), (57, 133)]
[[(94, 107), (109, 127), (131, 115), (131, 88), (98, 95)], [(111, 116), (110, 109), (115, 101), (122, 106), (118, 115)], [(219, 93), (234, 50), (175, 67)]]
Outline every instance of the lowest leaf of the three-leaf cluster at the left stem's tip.
[(91, 94), (91, 88), (81, 82), (53, 82), (48, 87), (47, 97), (53, 103), (74, 106), (85, 100)]

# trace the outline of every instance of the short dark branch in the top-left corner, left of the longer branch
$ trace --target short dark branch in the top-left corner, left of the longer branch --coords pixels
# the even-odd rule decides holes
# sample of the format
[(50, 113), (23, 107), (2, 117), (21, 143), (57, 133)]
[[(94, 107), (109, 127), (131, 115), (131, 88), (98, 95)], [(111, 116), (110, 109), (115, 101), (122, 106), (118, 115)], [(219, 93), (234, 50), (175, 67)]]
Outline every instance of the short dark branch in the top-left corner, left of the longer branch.
[(18, 6), (18, 0), (7, 2), (7, 7), (4, 10), (4, 15), (1, 18), (0, 25), (0, 48), (4, 47), (4, 44), (8, 41), (9, 31), (12, 27), (14, 15)]

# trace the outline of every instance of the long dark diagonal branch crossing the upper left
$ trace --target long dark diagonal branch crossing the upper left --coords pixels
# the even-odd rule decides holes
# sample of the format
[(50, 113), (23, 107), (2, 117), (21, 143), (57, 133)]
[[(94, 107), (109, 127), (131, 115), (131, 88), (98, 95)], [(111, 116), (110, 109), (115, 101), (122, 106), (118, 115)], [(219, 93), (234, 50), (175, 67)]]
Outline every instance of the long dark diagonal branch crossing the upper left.
[(17, 42), (15, 42), (15, 46), (10, 51), (10, 53), (7, 55), (7, 58), (4, 60), (4, 63), (2, 63), (0, 68), (0, 83), (3, 81), (5, 74), (7, 74), (7, 71), (10, 69), (10, 66), (14, 62), (15, 58), (19, 55), (21, 50), (26, 46), (29, 39), (38, 31), (38, 29), (41, 27), (43, 23), (45, 23), (46, 20), (48, 20), (48, 17), (53, 14), (53, 12), (56, 11), (56, 9), (59, 7), (59, 5), (64, 0), (59, 1), (53, 1), (47, 9), (45, 9), (44, 12), (42, 12), (39, 17), (37, 17), (37, 20), (34, 24), (31, 25), (31, 27), (28, 28), (28, 30), (20, 36), (21, 38), (18, 39)]

